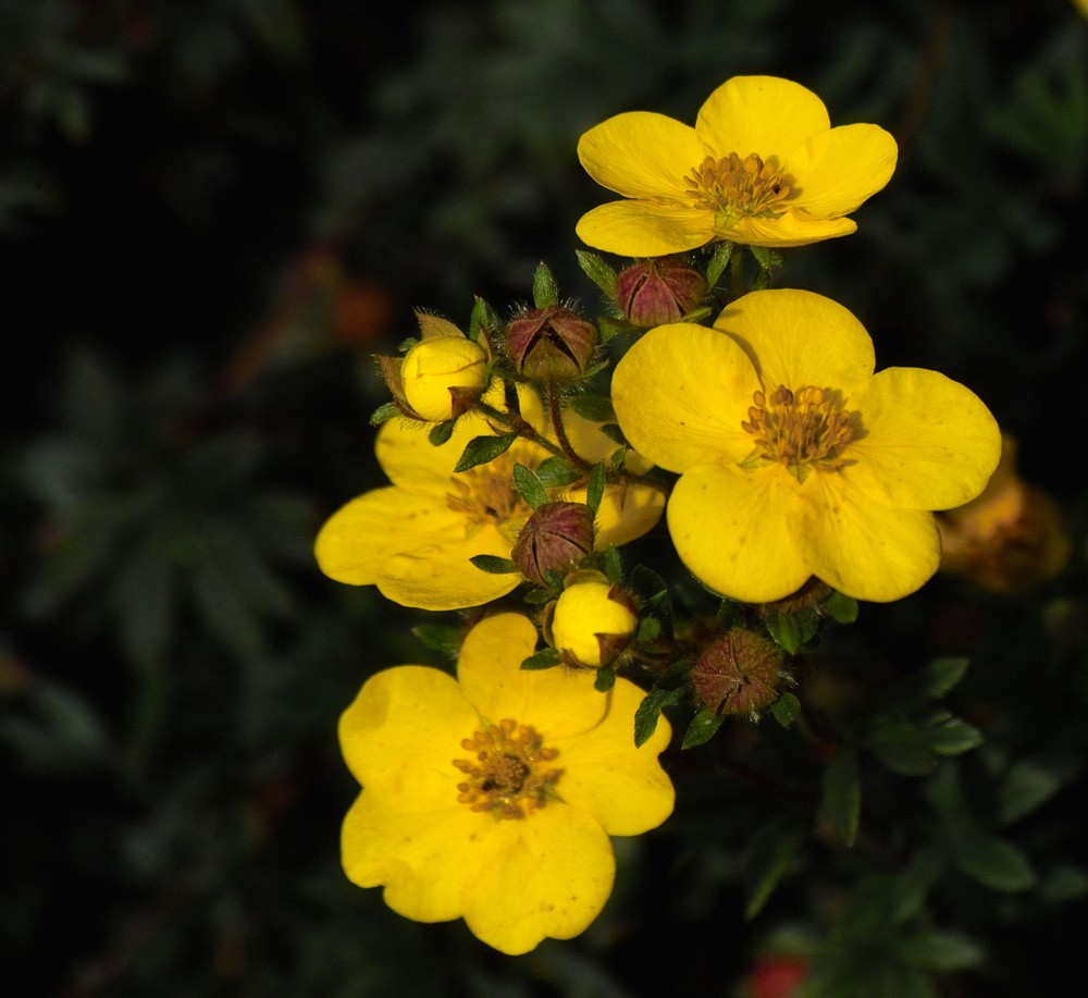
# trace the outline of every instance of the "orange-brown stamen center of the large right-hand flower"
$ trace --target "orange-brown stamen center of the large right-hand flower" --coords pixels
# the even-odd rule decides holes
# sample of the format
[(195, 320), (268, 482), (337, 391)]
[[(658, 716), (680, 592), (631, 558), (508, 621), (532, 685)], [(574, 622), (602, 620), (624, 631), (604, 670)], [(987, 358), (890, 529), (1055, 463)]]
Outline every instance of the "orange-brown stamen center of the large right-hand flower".
[(833, 389), (805, 385), (791, 392), (775, 389), (752, 396), (749, 418), (741, 427), (755, 438), (755, 449), (742, 465), (778, 461), (804, 481), (808, 472), (838, 471), (849, 464), (842, 453), (863, 434), (857, 412), (848, 409), (842, 393)]

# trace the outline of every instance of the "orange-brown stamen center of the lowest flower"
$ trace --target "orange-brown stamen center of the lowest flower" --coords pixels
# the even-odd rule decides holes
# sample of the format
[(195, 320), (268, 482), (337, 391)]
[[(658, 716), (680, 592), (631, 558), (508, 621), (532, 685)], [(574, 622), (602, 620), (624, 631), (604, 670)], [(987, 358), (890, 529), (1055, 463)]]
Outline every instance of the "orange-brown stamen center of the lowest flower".
[(472, 757), (454, 760), (468, 777), (457, 785), (457, 800), (472, 811), (523, 818), (543, 808), (548, 798), (559, 800), (554, 786), (562, 769), (548, 766), (559, 750), (545, 747), (530, 725), (507, 717), (484, 731), (473, 731), (461, 748)]

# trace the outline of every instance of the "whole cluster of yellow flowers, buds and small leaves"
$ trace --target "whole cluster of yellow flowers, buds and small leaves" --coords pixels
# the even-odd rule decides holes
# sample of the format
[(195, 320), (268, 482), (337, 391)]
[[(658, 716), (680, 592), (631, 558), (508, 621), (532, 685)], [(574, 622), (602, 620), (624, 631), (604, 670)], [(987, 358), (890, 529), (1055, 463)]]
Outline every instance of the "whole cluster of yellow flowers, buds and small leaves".
[[(619, 114), (578, 156), (623, 196), (577, 227), (626, 258), (579, 254), (605, 313), (541, 264), (505, 320), (481, 299), (467, 332), (420, 315), (420, 337), (379, 358), (390, 484), (316, 543), (338, 582), (472, 612), (443, 649), (456, 679), (396, 666), (345, 711), (362, 792), (343, 862), (395, 911), (462, 917), (507, 953), (585, 929), (610, 837), (669, 816), (665, 709), (693, 715), (681, 748), (776, 710), (819, 627), (934, 576), (954, 522), (936, 514), (982, 494), (1001, 453), (969, 389), (877, 370), (844, 306), (769, 286), (770, 247), (854, 232), (895, 168), (885, 130), (831, 127), (799, 84), (740, 76), (694, 127)], [(673, 612), (650, 539), (717, 611)]]

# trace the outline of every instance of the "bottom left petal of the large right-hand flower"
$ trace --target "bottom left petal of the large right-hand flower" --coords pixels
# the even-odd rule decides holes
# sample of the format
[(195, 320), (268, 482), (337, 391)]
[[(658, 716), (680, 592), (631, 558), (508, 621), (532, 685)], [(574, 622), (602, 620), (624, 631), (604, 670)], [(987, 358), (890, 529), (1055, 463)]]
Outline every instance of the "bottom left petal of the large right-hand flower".
[(798, 480), (781, 465), (702, 465), (668, 505), (677, 554), (705, 586), (746, 603), (781, 600), (812, 574), (799, 535)]

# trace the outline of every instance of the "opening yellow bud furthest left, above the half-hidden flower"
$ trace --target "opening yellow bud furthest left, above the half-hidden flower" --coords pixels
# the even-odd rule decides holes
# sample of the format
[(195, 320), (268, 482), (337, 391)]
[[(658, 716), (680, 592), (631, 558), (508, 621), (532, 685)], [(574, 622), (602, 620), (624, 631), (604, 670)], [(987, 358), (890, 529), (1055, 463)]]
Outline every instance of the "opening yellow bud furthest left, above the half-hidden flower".
[(487, 355), (463, 336), (421, 340), (405, 355), (400, 384), (423, 419), (443, 422), (471, 408), (486, 385)]

